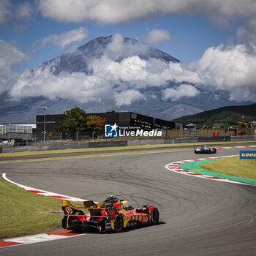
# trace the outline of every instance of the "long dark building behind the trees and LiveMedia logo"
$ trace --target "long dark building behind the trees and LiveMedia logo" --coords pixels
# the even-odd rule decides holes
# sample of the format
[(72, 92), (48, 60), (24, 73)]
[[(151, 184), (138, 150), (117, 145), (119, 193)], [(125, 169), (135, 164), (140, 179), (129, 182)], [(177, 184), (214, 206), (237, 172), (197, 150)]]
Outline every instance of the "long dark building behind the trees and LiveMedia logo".
[[(106, 118), (106, 124), (118, 124), (119, 129), (174, 129), (176, 124), (171, 121), (144, 116), (133, 112), (106, 112), (106, 113), (87, 113), (88, 116), (100, 116)], [(49, 138), (60, 138), (60, 132), (56, 131), (56, 126), (61, 121), (61, 115), (45, 115), (45, 131)], [(37, 139), (43, 138), (44, 116), (37, 116)]]

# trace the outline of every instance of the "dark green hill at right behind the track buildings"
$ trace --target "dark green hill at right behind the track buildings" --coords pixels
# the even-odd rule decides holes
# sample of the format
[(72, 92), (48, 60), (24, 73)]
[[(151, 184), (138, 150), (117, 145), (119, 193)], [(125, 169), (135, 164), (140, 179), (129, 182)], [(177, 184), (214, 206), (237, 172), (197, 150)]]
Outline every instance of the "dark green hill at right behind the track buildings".
[[(244, 118), (242, 118), (244, 116)], [(214, 110), (207, 110), (189, 116), (182, 116), (173, 119), (179, 124), (197, 124), (197, 127), (211, 127), (212, 124), (236, 124), (237, 121), (250, 122), (256, 121), (256, 103), (252, 105), (227, 106)]]

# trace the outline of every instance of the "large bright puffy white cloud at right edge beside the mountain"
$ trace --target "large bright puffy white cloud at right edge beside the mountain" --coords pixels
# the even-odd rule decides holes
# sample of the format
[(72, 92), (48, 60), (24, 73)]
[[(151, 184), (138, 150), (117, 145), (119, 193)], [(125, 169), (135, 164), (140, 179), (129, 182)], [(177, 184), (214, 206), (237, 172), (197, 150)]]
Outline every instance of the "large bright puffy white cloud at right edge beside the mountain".
[(250, 50), (246, 45), (208, 48), (195, 64), (201, 83), (228, 91), (231, 100), (255, 101), (256, 53)]

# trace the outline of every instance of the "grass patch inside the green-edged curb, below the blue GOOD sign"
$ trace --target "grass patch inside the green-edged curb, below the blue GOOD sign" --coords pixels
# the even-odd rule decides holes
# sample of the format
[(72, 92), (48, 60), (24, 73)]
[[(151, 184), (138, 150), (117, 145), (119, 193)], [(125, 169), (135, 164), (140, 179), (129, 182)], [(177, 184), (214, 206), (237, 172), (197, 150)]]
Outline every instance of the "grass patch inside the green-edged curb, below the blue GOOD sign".
[(223, 173), (241, 178), (256, 180), (256, 159), (240, 159), (240, 157), (223, 157), (200, 165), (203, 169), (215, 173)]

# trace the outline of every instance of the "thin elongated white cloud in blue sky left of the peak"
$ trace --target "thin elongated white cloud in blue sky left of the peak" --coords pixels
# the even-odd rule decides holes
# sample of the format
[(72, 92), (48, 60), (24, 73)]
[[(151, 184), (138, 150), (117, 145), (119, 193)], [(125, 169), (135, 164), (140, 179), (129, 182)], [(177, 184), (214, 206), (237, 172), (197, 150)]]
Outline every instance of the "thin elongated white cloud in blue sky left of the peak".
[(50, 36), (44, 37), (42, 40), (39, 40), (36, 43), (41, 42), (42, 48), (48, 43), (56, 45), (59, 48), (65, 48), (67, 45), (70, 45), (73, 42), (80, 42), (87, 38), (88, 34), (88, 30), (85, 27), (80, 27), (79, 29), (73, 29), (61, 34), (51, 34)]

